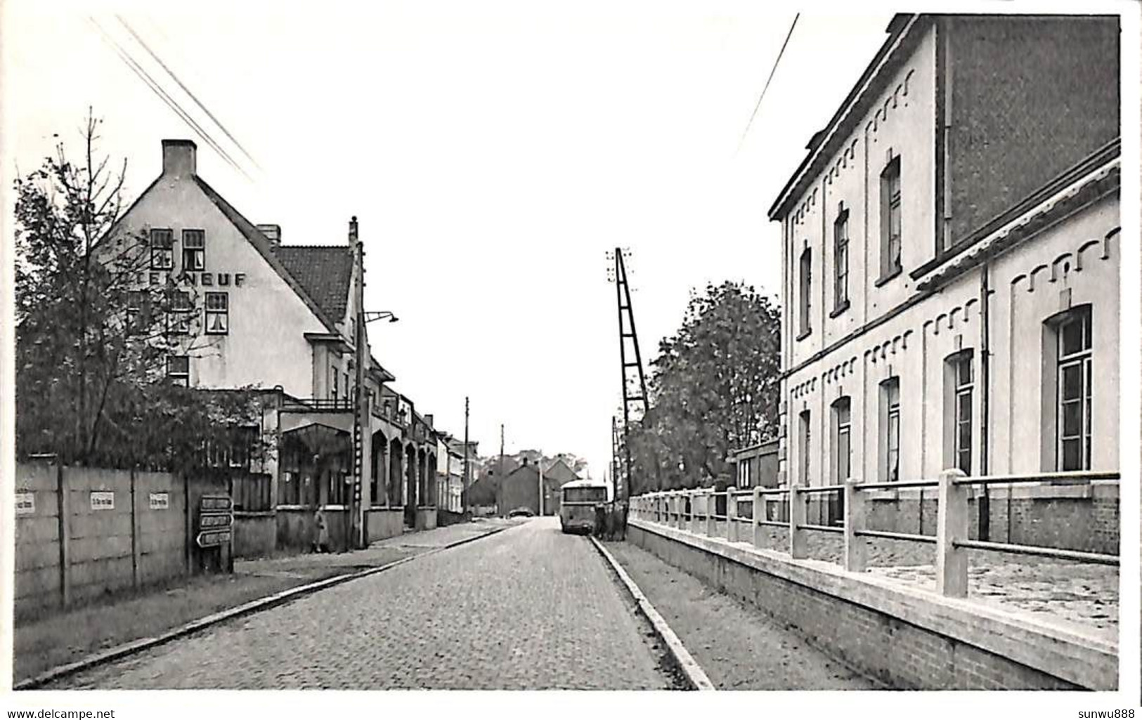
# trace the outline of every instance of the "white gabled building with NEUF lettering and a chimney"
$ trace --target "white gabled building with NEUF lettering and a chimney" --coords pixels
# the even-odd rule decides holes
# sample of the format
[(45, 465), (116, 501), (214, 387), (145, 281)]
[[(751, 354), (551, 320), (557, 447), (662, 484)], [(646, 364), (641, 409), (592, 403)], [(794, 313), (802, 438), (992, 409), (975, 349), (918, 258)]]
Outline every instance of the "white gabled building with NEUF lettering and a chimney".
[[(258, 430), (276, 452), (234, 468), (239, 555), (311, 547), (317, 508), (335, 547), (435, 526), (433, 418), (391, 387), (368, 327), (360, 353), (355, 346), (364, 280), (356, 218), (344, 242), (282, 244), (280, 226), (255, 225), (198, 176), (193, 141), (163, 140), (162, 173), (119, 219), (112, 236), (120, 234), (150, 243), (140, 284), (171, 281), (193, 298), (185, 314), (198, 314), (201, 337), (169, 357), (169, 380), (264, 393)], [(367, 363), (369, 460), (349, 523), (356, 357)]]

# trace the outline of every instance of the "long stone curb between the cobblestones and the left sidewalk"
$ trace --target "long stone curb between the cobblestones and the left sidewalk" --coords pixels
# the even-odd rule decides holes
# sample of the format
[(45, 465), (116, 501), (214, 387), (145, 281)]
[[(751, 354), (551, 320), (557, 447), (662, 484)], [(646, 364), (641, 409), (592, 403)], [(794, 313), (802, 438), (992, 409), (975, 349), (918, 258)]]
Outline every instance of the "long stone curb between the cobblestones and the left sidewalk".
[(508, 529), (510, 527), (515, 527), (515, 526), (514, 525), (507, 525), (507, 526), (504, 526), (504, 527), (497, 527), (497, 528), (493, 528), (493, 529), (491, 529), (491, 531), (489, 531), (486, 533), (481, 533), (480, 535), (475, 535), (473, 537), (465, 537), (464, 540), (458, 540), (458, 541), (456, 541), (453, 543), (449, 543), (447, 545), (441, 545), (440, 548), (433, 548), (432, 550), (426, 550), (425, 552), (421, 552), (421, 553), (418, 553), (418, 555), (409, 556), (407, 558), (401, 558), (400, 560), (393, 560), (392, 563), (386, 563), (385, 565), (379, 565), (377, 567), (370, 567), (368, 569), (359, 571), (356, 573), (347, 573), (345, 575), (336, 575), (333, 577), (327, 577), (325, 580), (319, 580), (316, 582), (312, 582), (312, 583), (309, 583), (307, 585), (299, 585), (297, 588), (290, 588), (289, 590), (282, 590), (281, 592), (276, 592), (274, 594), (266, 596), (264, 598), (258, 598), (257, 600), (251, 600), (251, 601), (246, 602), (243, 605), (239, 605), (238, 607), (232, 607), (232, 608), (228, 608), (228, 609), (225, 609), (225, 610), (220, 610), (218, 613), (214, 613), (212, 615), (207, 615), (206, 617), (200, 617), (198, 620), (192, 620), (191, 622), (186, 623), (185, 625), (179, 625), (178, 628), (175, 628), (174, 630), (169, 630), (169, 631), (167, 631), (167, 632), (164, 632), (164, 633), (162, 633), (160, 636), (155, 636), (153, 638), (140, 638), (138, 640), (131, 640), (130, 642), (124, 642), (122, 645), (116, 645), (115, 647), (106, 649), (106, 650), (103, 650), (100, 653), (96, 653), (94, 655), (88, 655), (87, 657), (83, 657), (83, 658), (78, 660), (75, 662), (71, 662), (71, 663), (67, 663), (67, 664), (64, 664), (64, 665), (56, 665), (55, 668), (53, 668), (50, 670), (46, 670), (45, 672), (41, 672), (40, 674), (35, 675), (34, 678), (27, 678), (25, 680), (21, 680), (19, 682), (14, 683), (11, 686), (11, 689), (13, 690), (34, 690), (34, 689), (37, 689), (39, 687), (42, 687), (42, 686), (45, 686), (45, 685), (47, 685), (49, 682), (53, 682), (55, 680), (58, 680), (61, 678), (65, 678), (67, 675), (75, 674), (75, 673), (81, 672), (83, 670), (89, 670), (89, 669), (95, 668), (97, 665), (103, 665), (103, 664), (110, 663), (112, 661), (121, 660), (123, 657), (127, 657), (128, 655), (132, 655), (132, 654), (139, 653), (142, 650), (146, 650), (146, 649), (150, 649), (150, 648), (153, 648), (153, 647), (158, 647), (158, 646), (163, 645), (166, 642), (169, 642), (171, 640), (176, 640), (176, 639), (182, 638), (184, 636), (188, 636), (188, 634), (191, 634), (193, 632), (198, 632), (199, 630), (203, 630), (203, 629), (209, 628), (211, 625), (217, 625), (219, 623), (226, 622), (227, 620), (233, 620), (233, 618), (240, 617), (242, 615), (249, 615), (251, 613), (257, 613), (259, 610), (267, 610), (267, 609), (270, 609), (272, 607), (276, 607), (279, 605), (282, 605), (282, 604), (284, 604), (284, 602), (287, 602), (289, 600), (293, 600), (293, 599), (299, 598), (301, 596), (312, 594), (314, 592), (317, 592), (319, 590), (324, 590), (325, 588), (332, 588), (333, 585), (339, 585), (341, 583), (346, 583), (346, 582), (348, 582), (351, 580), (357, 580), (360, 577), (367, 577), (369, 575), (375, 575), (377, 573), (383, 573), (383, 572), (385, 572), (387, 569), (396, 567), (397, 565), (403, 565), (405, 563), (410, 563), (412, 560), (416, 560), (416, 559), (419, 559), (419, 558), (423, 558), (423, 557), (427, 557), (429, 555), (435, 555), (435, 553), (441, 552), (443, 550), (450, 550), (450, 549), (456, 548), (458, 545), (467, 544), (467, 543), (474, 542), (476, 540), (483, 540), (484, 537), (488, 537), (489, 535), (494, 535), (496, 533), (501, 533), (501, 532), (504, 532), (504, 531), (506, 531), (506, 529)]

